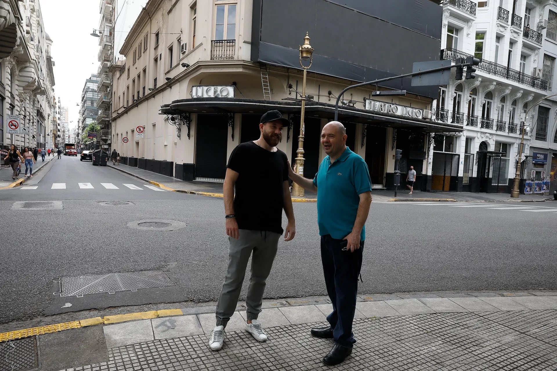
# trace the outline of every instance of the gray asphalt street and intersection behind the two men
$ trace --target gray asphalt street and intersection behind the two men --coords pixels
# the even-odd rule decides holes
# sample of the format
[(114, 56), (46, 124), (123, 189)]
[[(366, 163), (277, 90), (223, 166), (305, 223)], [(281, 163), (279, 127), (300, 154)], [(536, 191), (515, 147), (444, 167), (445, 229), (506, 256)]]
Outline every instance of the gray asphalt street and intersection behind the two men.
[[(79, 157), (62, 157), (26, 188), (0, 191), (0, 322), (82, 309), (216, 300), (228, 254), (222, 199), (149, 186)], [(16, 201), (61, 201), (62, 209), (12, 210)], [(326, 294), (316, 204), (296, 203), (294, 210), (296, 237), (280, 241), (266, 298)], [(128, 226), (148, 219), (180, 221), (185, 227)], [(555, 290), (555, 225), (557, 201), (374, 202), (359, 291)], [(176, 285), (62, 301), (53, 294), (63, 276), (153, 269), (164, 270)]]

